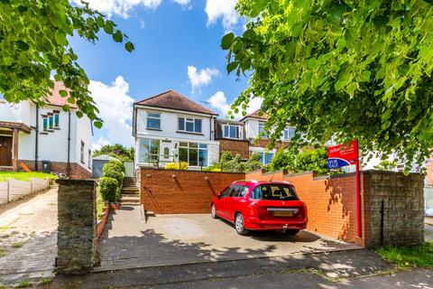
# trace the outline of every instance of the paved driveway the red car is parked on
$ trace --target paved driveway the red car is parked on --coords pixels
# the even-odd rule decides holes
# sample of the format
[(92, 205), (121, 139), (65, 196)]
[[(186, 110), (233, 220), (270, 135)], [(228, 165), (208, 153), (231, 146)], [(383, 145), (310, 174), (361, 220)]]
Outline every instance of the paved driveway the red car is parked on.
[(110, 216), (99, 243), (97, 271), (288, 256), (357, 248), (301, 231), (236, 234), (233, 226), (209, 214), (159, 215), (143, 221), (140, 206), (123, 206)]

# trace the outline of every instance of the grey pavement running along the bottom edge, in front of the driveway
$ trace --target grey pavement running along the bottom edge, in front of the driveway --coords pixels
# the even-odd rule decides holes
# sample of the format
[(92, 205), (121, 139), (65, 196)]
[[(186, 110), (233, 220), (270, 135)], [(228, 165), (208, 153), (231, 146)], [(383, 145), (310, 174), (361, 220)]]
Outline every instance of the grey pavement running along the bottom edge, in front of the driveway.
[(46, 288), (433, 288), (432, 271), (394, 272), (366, 249), (57, 276)]

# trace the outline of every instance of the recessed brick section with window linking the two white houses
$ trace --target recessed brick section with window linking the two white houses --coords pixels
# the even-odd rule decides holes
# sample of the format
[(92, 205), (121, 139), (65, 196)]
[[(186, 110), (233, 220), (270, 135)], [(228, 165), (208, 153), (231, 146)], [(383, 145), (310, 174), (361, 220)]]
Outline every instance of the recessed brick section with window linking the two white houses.
[(249, 141), (246, 139), (245, 124), (241, 121), (216, 119), (215, 139), (219, 142), (219, 154), (231, 152), (240, 154), (243, 160), (249, 158)]

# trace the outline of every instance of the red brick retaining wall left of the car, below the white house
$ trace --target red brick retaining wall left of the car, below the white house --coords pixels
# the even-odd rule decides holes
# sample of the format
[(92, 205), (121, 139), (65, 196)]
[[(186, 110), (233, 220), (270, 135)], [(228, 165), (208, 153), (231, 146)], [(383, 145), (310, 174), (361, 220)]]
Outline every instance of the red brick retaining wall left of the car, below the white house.
[(142, 168), (141, 202), (145, 210), (156, 214), (207, 213), (212, 197), (244, 176), (232, 172)]

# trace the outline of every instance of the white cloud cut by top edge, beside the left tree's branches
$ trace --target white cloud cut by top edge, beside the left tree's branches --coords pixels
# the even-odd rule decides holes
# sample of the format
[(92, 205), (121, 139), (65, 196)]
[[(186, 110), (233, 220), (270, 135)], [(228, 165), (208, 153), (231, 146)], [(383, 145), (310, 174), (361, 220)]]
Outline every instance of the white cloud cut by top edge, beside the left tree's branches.
[[(81, 0), (72, 0), (76, 5), (82, 5)], [(124, 18), (129, 17), (129, 13), (137, 5), (145, 8), (155, 9), (161, 5), (162, 0), (86, 0), (88, 5), (108, 17), (119, 15)]]

